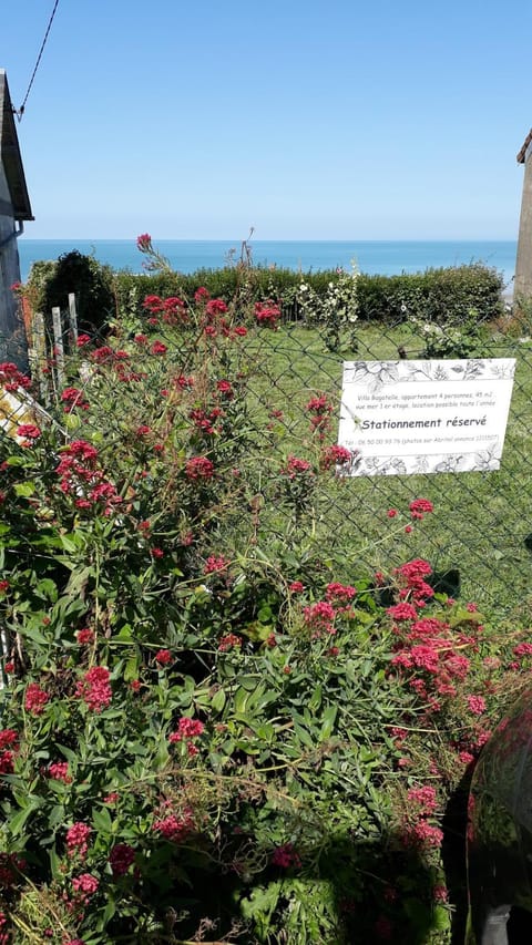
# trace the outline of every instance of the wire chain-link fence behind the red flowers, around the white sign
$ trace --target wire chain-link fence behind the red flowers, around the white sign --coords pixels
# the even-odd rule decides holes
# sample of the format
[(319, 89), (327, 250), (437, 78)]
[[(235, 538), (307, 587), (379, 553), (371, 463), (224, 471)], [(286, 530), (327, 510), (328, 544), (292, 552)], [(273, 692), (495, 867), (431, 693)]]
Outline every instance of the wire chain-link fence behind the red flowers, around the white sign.
[[(316, 476), (311, 490), (307, 490), (305, 502), (300, 503), (300, 507), (305, 506), (305, 524), (303, 518), (299, 524), (317, 548), (320, 542), (324, 548), (330, 546), (334, 536), (334, 544), (345, 558), (339, 567), (346, 578), (359, 573), (361, 567), (368, 574), (386, 572), (412, 556), (424, 557), (433, 567), (438, 589), (452, 597), (475, 600), (487, 615), (508, 616), (522, 608), (525, 613), (532, 577), (532, 523), (529, 518), (532, 341), (523, 336), (523, 325), (515, 326), (507, 320), (482, 328), (482, 337), (478, 335), (479, 326), (470, 325), (469, 333), (462, 326), (461, 332), (457, 329), (458, 333), (453, 335), (454, 329), (420, 326), (408, 318), (408, 312), (401, 312), (397, 323), (357, 323), (356, 331), (351, 326), (349, 335), (337, 333), (331, 343), (330, 332), (320, 323), (277, 323), (274, 319), (272, 326), (263, 321), (248, 327), (246, 337), (241, 338), (237, 356), (225, 352), (222, 357), (217, 366), (218, 381), (226, 380), (227, 389), (224, 394), (223, 383), (219, 384), (218, 400), (214, 403), (207, 402), (206, 392), (202, 392), (202, 381), (196, 377), (193, 388), (188, 378), (190, 326), (185, 343), (178, 315), (164, 320), (157, 314), (152, 322), (146, 326), (146, 333), (137, 330), (137, 323), (132, 323), (129, 330), (123, 329), (120, 338), (108, 336), (95, 349), (88, 342), (89, 353), (80, 348), (81, 361), (78, 357), (74, 366), (66, 369), (66, 380), (62, 378), (64, 368), (60, 366), (60, 384), (53, 357), (44, 372), (41, 364), (41, 392), (38, 394), (41, 405), (53, 415), (55, 403), (60, 421), (66, 409), (70, 418), (78, 415), (76, 423), (86, 428), (91, 418), (90, 411), (84, 410), (85, 402), (91, 402), (95, 392), (103, 402), (102, 370), (112, 366), (111, 384), (115, 383), (116, 398), (120, 396), (122, 403), (117, 411), (116, 401), (113, 403), (108, 389), (108, 449), (112, 452), (125, 417), (136, 428), (142, 428), (145, 404), (139, 400), (140, 386), (135, 382), (135, 372), (142, 363), (144, 379), (150, 372), (152, 378), (147, 388), (145, 384), (142, 388), (142, 396), (151, 399), (152, 414), (154, 410), (160, 412), (157, 435), (161, 441), (168, 435), (171, 424), (176, 428), (184, 422), (195, 427), (201, 452), (208, 453), (219, 441), (222, 427), (226, 435), (232, 423), (235, 435), (247, 438), (248, 456), (254, 458), (249, 480), (253, 486), (241, 495), (238, 514), (243, 520), (249, 516), (255, 530), (270, 528), (275, 533), (279, 528), (279, 520), (265, 509), (268, 499), (276, 505), (280, 495), (279, 476), (284, 476), (285, 483), (291, 483), (291, 499), (297, 505), (296, 473), (305, 471), (305, 465), (298, 466), (297, 462), (294, 465), (294, 461), (301, 461), (309, 464), (310, 471), (321, 470), (328, 474)], [(98, 355), (99, 351), (103, 353)], [(206, 364), (207, 348), (204, 351)], [(330, 449), (337, 443), (344, 361), (457, 358), (464, 351), (470, 359), (515, 359), (500, 469), (415, 475), (344, 475), (345, 469), (335, 462), (335, 452)], [(161, 383), (166, 381), (161, 380), (157, 370), (163, 359), (165, 377), (172, 376), (174, 383), (170, 394), (163, 391), (161, 396)], [(151, 362), (156, 367), (150, 367)], [(109, 377), (105, 383), (109, 386)], [(205, 388), (205, 381), (203, 383)], [(236, 410), (238, 397), (234, 396), (244, 387), (245, 412)], [(74, 391), (66, 399), (65, 389)], [(158, 408), (157, 399), (161, 401)], [(242, 407), (242, 397), (239, 401)], [(13, 404), (4, 402), (4, 414), (10, 410), (14, 410)], [(20, 415), (16, 417), (16, 423), (20, 423)], [(65, 424), (65, 435), (76, 435), (76, 425), (72, 420), (70, 424), (70, 432)], [(9, 432), (14, 432), (14, 425), (11, 423)], [(4, 432), (9, 427), (4, 420)], [(226, 463), (236, 462), (236, 452), (232, 455), (228, 446), (224, 456)], [(242, 455), (238, 462), (241, 465), (245, 462)], [(434, 512), (426, 516), (422, 526), (412, 535), (403, 524), (396, 527), (393, 510), (408, 510), (409, 503), (419, 496), (429, 500)], [(277, 514), (282, 514), (280, 505)]]

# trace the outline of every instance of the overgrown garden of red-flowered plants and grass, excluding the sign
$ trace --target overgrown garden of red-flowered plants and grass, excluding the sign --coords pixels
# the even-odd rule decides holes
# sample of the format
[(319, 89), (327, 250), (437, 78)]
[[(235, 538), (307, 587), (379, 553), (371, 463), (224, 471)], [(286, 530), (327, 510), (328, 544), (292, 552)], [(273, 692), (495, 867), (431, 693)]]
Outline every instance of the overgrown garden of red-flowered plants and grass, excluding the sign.
[(466, 497), (345, 475), (341, 362), (525, 326), (492, 274), (449, 323), (449, 279), (433, 318), (403, 286), (383, 331), (356, 274), (214, 294), (139, 247), (61, 382), (53, 347), (0, 364), (38, 401), (0, 432), (0, 942), (463, 941), (469, 781), (530, 678), (531, 382)]

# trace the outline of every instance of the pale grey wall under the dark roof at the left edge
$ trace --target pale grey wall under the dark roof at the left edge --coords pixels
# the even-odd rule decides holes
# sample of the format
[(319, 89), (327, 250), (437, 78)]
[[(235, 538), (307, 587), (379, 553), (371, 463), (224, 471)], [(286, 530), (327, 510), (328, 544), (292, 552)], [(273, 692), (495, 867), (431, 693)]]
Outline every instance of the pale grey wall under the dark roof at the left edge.
[(0, 361), (27, 364), (25, 337), (18, 318), (18, 299), (11, 291), (20, 281), (19, 248), (16, 224), (11, 215), (11, 198), (3, 167), (0, 164)]

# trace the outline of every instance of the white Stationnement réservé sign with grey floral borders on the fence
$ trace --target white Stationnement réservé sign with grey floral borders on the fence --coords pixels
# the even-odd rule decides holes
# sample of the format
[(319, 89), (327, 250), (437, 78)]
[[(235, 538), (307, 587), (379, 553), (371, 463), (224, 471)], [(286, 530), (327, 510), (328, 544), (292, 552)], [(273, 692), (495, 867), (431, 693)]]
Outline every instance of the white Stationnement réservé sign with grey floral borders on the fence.
[(346, 361), (347, 475), (490, 472), (501, 463), (514, 358)]

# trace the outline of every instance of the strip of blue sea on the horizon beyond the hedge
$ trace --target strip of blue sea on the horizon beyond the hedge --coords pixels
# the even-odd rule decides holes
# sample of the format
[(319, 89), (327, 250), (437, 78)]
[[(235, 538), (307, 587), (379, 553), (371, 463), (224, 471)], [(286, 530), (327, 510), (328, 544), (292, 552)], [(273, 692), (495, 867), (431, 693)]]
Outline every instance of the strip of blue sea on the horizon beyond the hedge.
[[(193, 273), (201, 268), (217, 269), (241, 255), (239, 240), (162, 239), (156, 248), (173, 268)], [(515, 268), (515, 240), (252, 240), (253, 260), (263, 266), (278, 266), (296, 271), (350, 269), (355, 261), (361, 273), (396, 276), (422, 273), (430, 268), (483, 263), (503, 274), (511, 283)], [(19, 239), (22, 280), (32, 263), (57, 259), (78, 249), (94, 255), (113, 269), (142, 273), (143, 256), (134, 239)]]

